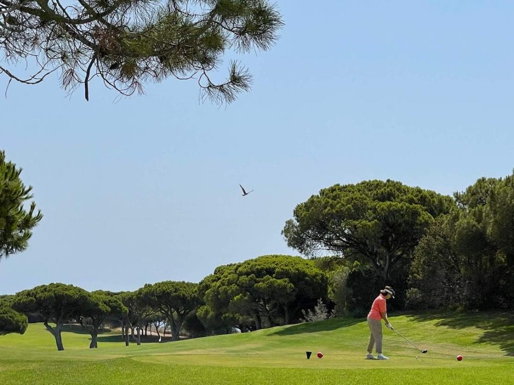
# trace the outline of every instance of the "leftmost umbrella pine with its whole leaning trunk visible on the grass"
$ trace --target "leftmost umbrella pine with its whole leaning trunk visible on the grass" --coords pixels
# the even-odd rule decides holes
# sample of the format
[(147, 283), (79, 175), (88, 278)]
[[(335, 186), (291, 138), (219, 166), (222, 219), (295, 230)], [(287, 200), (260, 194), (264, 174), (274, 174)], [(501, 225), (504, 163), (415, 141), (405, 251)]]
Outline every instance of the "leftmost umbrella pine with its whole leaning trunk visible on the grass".
[[(64, 283), (36, 286), (16, 294), (13, 308), (22, 313), (39, 313), (45, 328), (56, 339), (57, 350), (64, 350), (61, 331), (66, 321), (80, 314), (88, 293), (80, 287)], [(51, 326), (49, 322), (54, 323)]]

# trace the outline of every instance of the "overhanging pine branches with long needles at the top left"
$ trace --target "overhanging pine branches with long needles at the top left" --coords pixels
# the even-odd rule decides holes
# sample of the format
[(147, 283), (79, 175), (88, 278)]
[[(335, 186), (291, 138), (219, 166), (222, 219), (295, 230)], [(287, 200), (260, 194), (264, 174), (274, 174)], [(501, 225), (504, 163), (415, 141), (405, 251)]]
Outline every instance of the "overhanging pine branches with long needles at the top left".
[[(203, 96), (231, 102), (251, 75), (232, 62), (225, 81), (213, 72), (229, 50), (267, 50), (283, 22), (266, 0), (0, 0), (0, 73), (36, 84), (57, 71), (62, 87), (93, 78), (123, 95), (147, 81), (194, 79)], [(23, 78), (7, 64), (28, 62)]]

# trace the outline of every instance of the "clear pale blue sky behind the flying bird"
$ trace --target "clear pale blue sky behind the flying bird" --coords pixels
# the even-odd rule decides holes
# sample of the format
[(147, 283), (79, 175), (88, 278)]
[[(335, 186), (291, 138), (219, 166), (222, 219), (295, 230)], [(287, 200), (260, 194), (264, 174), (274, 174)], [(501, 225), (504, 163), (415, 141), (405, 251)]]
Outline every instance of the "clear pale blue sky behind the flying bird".
[(99, 82), (89, 102), (66, 98), (56, 78), (5, 99), (0, 75), (0, 149), (44, 214), (27, 251), (0, 262), (0, 293), (198, 282), (298, 254), (285, 221), (335, 183), (452, 194), (511, 173), (514, 2), (317, 4), (278, 0), (281, 39), (239, 58), (254, 85), (228, 107), (172, 79), (118, 103)]

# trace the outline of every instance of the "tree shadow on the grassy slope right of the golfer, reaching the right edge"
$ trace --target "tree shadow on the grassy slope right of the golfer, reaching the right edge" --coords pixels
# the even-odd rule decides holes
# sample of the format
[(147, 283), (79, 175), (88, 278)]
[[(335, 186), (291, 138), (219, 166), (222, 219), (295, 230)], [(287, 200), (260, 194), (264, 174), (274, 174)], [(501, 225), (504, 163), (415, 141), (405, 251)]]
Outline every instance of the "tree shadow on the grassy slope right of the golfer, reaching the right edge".
[(438, 320), (436, 326), (452, 329), (475, 326), (484, 330), (476, 343), (498, 345), (507, 356), (514, 356), (514, 314), (512, 313), (434, 313), (408, 316), (416, 321)]

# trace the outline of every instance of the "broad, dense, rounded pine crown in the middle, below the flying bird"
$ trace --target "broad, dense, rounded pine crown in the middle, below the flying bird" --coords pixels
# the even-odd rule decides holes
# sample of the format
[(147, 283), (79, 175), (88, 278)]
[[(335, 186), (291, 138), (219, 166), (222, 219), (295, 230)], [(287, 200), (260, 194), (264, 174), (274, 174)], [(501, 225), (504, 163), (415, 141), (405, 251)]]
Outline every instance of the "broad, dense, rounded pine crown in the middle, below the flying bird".
[(217, 267), (200, 282), (199, 294), (206, 306), (198, 317), (207, 328), (248, 327), (250, 318), (261, 329), (298, 322), (302, 310), (326, 301), (327, 277), (312, 261), (269, 255)]

